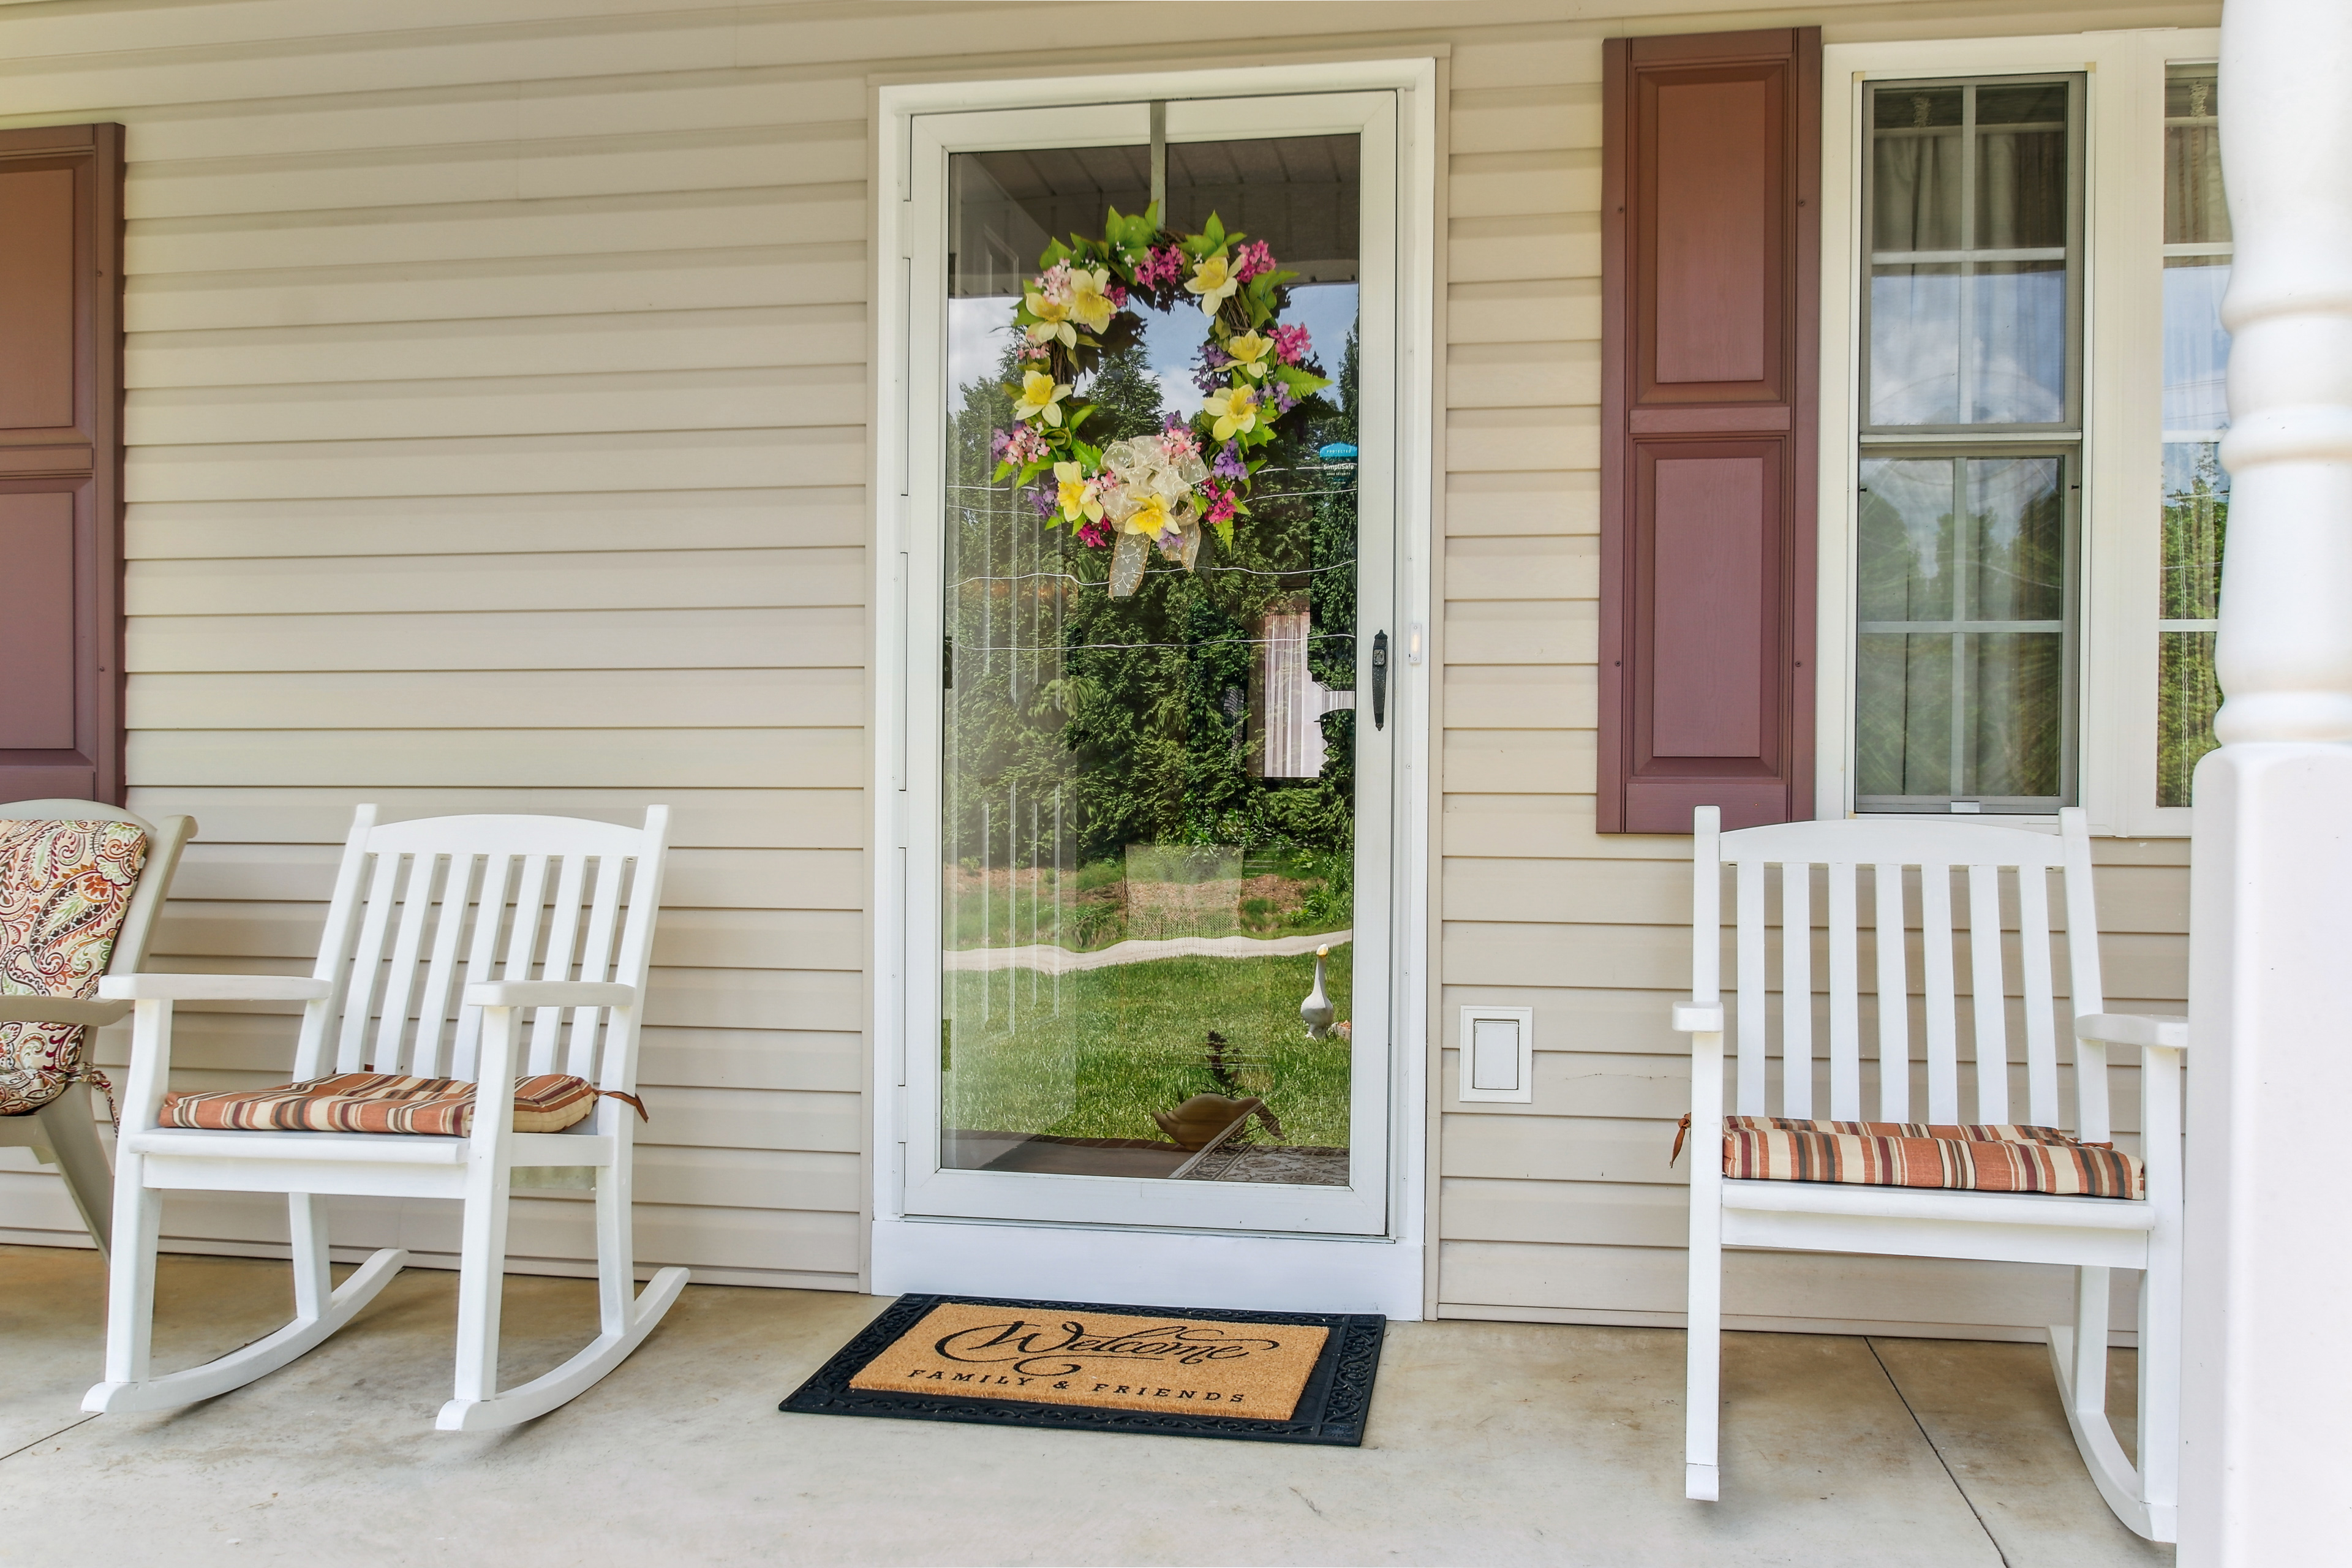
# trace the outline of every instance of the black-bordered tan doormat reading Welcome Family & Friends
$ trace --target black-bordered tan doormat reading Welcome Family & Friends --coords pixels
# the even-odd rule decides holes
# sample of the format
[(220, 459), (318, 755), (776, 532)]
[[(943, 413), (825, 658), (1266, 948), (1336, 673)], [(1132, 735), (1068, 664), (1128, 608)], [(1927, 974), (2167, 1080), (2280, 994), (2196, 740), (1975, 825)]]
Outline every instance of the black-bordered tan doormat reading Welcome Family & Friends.
[(781, 1410), (1364, 1441), (1388, 1319), (901, 1295)]

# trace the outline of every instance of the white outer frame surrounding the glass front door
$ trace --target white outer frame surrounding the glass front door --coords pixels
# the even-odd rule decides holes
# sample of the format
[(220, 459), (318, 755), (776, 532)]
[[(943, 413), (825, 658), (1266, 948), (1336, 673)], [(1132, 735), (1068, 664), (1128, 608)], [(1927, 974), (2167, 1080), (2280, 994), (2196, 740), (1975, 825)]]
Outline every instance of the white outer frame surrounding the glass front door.
[[(1145, 71), (1033, 80), (922, 82), (875, 92), (875, 266), (873, 266), (873, 684), (870, 710), (870, 1201), (868, 1281), (873, 1291), (967, 1291), (1021, 1298), (1131, 1300), (1160, 1305), (1322, 1307), (1421, 1316), (1428, 1164), (1428, 976), (1432, 966), (1430, 860), (1430, 567), (1435, 447), (1435, 59)], [(934, 943), (908, 940), (908, 922), (929, 900), (910, 882), (917, 816), (929, 809), (917, 750), (934, 705), (917, 691), (910, 630), (927, 621), (915, 595), (936, 590), (929, 536), (931, 487), (915, 463), (936, 430), (936, 411), (915, 407), (929, 378), (908, 331), (922, 284), (915, 237), (915, 115), (969, 110), (1051, 110), (1150, 99), (1270, 99), (1334, 92), (1397, 94), (1397, 386), (1395, 386), (1395, 658), (1390, 668), (1390, 1081), (1388, 1225), (1376, 1237), (1289, 1234), (1207, 1227), (1134, 1227), (1044, 1220), (941, 1218), (906, 1213), (910, 1126), (922, 1074), (908, 1072), (910, 1004), (929, 1006), (917, 966), (936, 964)], [(1051, 136), (1049, 136), (1051, 139)], [(931, 559), (931, 569), (927, 569)], [(917, 849), (920, 853), (920, 849)], [(1131, 1284), (1122, 1284), (1131, 1281)], [(1152, 1284), (1160, 1281), (1160, 1284)], [(1174, 1281), (1183, 1281), (1176, 1286)], [(1178, 1302), (1167, 1302), (1169, 1295)]]

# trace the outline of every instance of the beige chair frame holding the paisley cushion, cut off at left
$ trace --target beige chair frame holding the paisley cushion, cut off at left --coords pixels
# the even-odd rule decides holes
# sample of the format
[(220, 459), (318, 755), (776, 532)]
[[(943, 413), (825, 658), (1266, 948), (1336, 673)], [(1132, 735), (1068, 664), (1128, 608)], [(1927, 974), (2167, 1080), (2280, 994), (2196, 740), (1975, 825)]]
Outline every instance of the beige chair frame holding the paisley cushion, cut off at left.
[[(108, 806), (96, 799), (16, 799), (0, 802), (5, 823), (132, 823), (148, 835), (146, 860), (139, 867), (139, 886), (132, 891), (129, 910), (115, 931), (115, 947), (108, 954), (108, 976), (139, 973), (146, 964), (148, 943), (155, 938), (155, 917), (172, 891), (172, 872), (179, 870), (179, 851), (195, 837), (193, 816), (165, 816), (153, 823)], [(85, 1058), (96, 1030), (120, 1023), (132, 1011), (129, 1001), (103, 1001), (99, 997), (0, 997), (0, 1023), (64, 1023), (80, 1025)], [(96, 1105), (89, 1084), (71, 1084), (35, 1112), (0, 1117), (0, 1147), (28, 1147), (42, 1154), (42, 1164), (54, 1157), (56, 1173), (66, 1182), (75, 1213), (99, 1251), (113, 1241), (115, 1178), (106, 1164), (106, 1147), (99, 1143)]]

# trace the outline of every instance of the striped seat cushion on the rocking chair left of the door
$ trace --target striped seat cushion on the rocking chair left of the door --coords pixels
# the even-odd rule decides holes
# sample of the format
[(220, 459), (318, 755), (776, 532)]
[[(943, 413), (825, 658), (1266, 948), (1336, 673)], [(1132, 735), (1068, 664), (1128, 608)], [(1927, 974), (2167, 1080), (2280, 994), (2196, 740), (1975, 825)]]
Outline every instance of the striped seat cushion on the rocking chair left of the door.
[[(515, 1131), (560, 1133), (595, 1110), (595, 1086), (569, 1072), (543, 1072), (515, 1084)], [(278, 1088), (216, 1088), (167, 1093), (160, 1126), (221, 1133), (473, 1133), (473, 1084), (407, 1079), (397, 1072), (339, 1072)]]

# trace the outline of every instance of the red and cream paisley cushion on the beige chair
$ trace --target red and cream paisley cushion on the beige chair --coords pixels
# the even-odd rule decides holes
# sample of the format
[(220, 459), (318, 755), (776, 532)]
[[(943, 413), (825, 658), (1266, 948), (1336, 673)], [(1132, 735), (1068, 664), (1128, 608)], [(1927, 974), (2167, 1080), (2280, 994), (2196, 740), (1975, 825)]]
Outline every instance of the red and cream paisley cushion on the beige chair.
[[(0, 820), (0, 992), (96, 997), (143, 865), (134, 823)], [(80, 1074), (80, 1025), (0, 1023), (0, 1117), (40, 1110)]]

